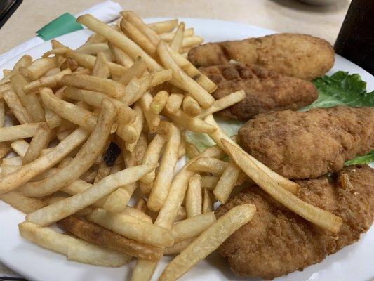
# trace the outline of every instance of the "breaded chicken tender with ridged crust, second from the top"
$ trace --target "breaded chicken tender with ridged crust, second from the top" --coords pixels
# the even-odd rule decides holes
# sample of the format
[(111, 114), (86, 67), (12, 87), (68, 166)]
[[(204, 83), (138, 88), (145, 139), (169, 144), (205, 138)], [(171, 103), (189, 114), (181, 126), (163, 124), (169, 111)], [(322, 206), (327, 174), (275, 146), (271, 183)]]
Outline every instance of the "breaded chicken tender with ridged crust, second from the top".
[(244, 100), (220, 111), (220, 115), (227, 119), (247, 121), (259, 113), (298, 110), (318, 97), (311, 82), (277, 74), (257, 65), (227, 63), (199, 70), (217, 84), (218, 89), (212, 93), (216, 100), (234, 91), (246, 91)]

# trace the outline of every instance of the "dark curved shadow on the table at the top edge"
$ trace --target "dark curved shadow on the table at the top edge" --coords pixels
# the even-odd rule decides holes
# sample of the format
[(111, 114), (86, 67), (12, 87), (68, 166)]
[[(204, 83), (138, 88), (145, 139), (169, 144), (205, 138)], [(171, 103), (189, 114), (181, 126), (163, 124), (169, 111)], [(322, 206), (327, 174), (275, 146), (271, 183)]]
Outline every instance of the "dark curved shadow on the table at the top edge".
[(310, 11), (314, 13), (321, 12), (331, 12), (331, 11), (341, 11), (346, 10), (349, 6), (349, 0), (340, 0), (335, 4), (328, 6), (313, 6), (309, 4), (302, 3), (298, 0), (270, 0), (280, 6), (290, 8), (296, 11)]

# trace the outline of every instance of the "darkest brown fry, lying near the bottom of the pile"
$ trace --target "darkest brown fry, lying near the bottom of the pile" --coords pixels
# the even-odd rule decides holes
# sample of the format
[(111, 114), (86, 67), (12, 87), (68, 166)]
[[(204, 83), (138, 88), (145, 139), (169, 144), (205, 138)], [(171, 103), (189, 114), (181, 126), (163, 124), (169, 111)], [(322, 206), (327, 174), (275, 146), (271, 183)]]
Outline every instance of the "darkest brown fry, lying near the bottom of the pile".
[(98, 244), (116, 251), (121, 251), (130, 256), (135, 256), (149, 261), (158, 261), (161, 258), (161, 248), (143, 244), (135, 240), (118, 235), (102, 226), (88, 221), (83, 221), (75, 216), (69, 216), (58, 225), (65, 228), (69, 233), (81, 238), (86, 242)]

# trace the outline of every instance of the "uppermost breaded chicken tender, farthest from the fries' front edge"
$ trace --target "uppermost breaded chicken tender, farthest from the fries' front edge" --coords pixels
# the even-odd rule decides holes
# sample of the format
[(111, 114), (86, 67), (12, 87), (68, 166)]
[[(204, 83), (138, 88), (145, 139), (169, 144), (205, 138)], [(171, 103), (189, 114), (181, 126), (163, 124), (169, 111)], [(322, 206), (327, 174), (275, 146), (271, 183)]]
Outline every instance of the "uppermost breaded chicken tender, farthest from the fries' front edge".
[(238, 60), (305, 80), (325, 74), (335, 60), (333, 47), (328, 41), (292, 33), (203, 44), (192, 48), (188, 58), (196, 67)]

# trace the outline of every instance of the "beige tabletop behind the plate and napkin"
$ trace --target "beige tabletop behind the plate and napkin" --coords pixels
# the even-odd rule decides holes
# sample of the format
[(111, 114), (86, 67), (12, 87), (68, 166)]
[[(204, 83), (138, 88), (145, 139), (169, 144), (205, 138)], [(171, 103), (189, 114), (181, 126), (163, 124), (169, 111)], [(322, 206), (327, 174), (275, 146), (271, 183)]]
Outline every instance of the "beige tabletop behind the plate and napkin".
[[(86, 10), (102, 0), (25, 0), (0, 30), (0, 53), (35, 36), (62, 13)], [(349, 0), (326, 7), (309, 6), (296, 0), (116, 0), (123, 9), (143, 18), (193, 17), (244, 22), (277, 32), (312, 34), (334, 43)], [(16, 34), (16, 36), (15, 36)], [(12, 274), (0, 263), (0, 276)]]

